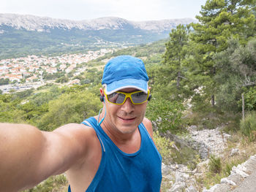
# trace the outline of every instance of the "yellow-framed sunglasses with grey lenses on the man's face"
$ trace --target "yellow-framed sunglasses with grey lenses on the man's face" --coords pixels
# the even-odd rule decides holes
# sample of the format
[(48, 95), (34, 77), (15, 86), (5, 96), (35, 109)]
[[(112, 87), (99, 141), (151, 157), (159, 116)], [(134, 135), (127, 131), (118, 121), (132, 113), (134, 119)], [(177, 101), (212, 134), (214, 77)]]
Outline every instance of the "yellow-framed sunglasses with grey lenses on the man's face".
[(148, 93), (144, 93), (143, 91), (135, 91), (132, 93), (116, 91), (109, 95), (105, 94), (105, 96), (111, 104), (124, 104), (128, 97), (131, 99), (132, 104), (143, 104), (148, 100), (149, 90)]

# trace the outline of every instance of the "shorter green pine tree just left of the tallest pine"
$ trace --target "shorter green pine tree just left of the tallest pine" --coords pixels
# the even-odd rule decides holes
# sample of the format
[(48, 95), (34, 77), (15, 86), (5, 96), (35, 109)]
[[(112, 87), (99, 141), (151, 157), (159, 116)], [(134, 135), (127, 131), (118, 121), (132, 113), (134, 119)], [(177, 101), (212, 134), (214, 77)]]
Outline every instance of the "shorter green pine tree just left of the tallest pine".
[(179, 25), (170, 32), (165, 44), (164, 61), (152, 65), (148, 74), (154, 96), (159, 99), (182, 100), (187, 96), (187, 44), (189, 27)]

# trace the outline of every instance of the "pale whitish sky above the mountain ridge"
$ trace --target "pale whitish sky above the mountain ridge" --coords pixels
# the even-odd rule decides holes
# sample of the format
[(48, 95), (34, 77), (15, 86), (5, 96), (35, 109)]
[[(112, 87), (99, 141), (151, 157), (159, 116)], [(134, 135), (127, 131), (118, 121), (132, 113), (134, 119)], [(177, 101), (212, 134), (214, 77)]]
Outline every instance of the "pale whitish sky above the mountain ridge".
[(0, 13), (91, 20), (118, 17), (127, 20), (195, 18), (206, 0), (1, 0)]

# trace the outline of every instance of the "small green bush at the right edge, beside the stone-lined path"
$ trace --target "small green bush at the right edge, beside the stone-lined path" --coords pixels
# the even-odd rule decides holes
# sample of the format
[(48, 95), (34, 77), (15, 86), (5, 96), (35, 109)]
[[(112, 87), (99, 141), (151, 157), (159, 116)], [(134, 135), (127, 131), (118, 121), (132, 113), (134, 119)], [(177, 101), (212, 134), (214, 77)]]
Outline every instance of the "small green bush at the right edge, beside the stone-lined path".
[(249, 112), (244, 120), (240, 122), (241, 132), (249, 138), (249, 141), (256, 140), (256, 112)]

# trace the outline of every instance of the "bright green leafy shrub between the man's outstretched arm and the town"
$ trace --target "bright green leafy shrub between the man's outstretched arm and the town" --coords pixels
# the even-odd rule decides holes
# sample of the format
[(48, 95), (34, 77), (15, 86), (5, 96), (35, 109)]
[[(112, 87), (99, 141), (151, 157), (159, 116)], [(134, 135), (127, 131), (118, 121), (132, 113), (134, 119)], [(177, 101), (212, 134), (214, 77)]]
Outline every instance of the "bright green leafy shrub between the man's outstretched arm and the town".
[(49, 101), (48, 112), (42, 115), (37, 127), (43, 131), (53, 131), (67, 123), (80, 123), (99, 112), (102, 104), (89, 91), (64, 93), (58, 99)]

